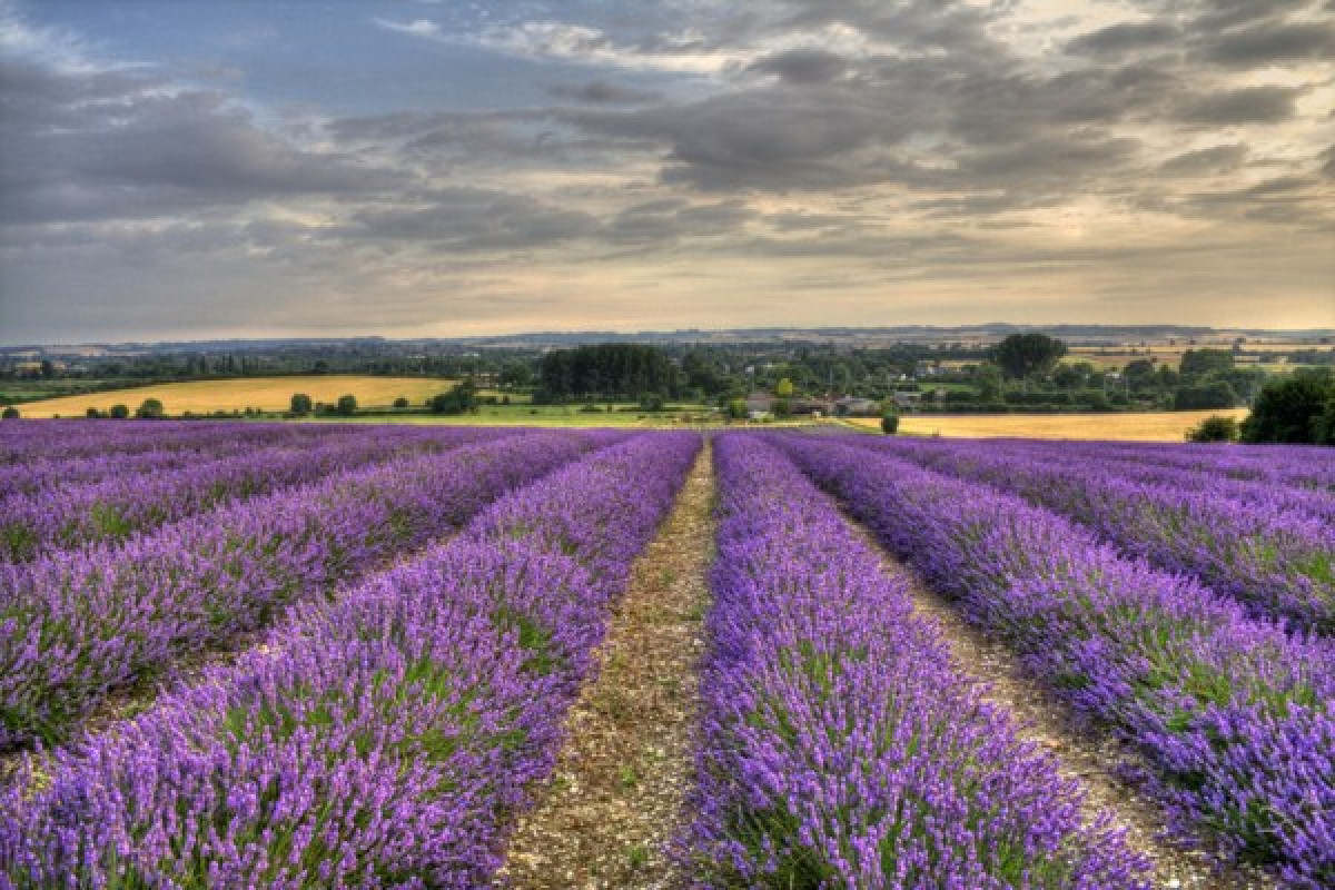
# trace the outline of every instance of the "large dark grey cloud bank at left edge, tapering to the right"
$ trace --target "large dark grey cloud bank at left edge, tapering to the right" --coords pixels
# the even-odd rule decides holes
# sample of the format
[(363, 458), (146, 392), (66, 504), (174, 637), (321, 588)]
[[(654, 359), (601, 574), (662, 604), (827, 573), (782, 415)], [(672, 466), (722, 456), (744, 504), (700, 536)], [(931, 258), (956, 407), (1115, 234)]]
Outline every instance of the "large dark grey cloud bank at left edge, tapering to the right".
[[(402, 175), (310, 152), (210, 91), (134, 73), (36, 64), (5, 83), (3, 217), (136, 217), (286, 195), (402, 185)], [(33, 111), (36, 109), (36, 111)]]

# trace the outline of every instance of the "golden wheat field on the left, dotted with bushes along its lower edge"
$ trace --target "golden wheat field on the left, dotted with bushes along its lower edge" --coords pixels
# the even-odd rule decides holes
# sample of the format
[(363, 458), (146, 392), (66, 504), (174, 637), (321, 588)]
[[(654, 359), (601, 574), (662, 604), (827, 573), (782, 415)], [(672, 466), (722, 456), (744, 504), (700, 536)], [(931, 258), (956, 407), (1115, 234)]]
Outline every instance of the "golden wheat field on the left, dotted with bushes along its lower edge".
[(243, 378), (238, 380), (194, 380), (190, 383), (162, 383), (112, 390), (88, 395), (71, 395), (20, 404), (25, 418), (81, 418), (88, 408), (105, 411), (113, 404), (124, 404), (134, 411), (144, 399), (158, 399), (170, 415), (186, 411), (208, 414), (212, 411), (286, 411), (294, 392), (304, 392), (312, 402), (336, 402), (340, 395), (352, 395), (362, 408), (387, 408), (403, 396), (409, 404), (421, 407), (426, 399), (446, 392), (455, 380), (439, 378), (374, 378), (362, 375), (310, 375), (292, 378)]

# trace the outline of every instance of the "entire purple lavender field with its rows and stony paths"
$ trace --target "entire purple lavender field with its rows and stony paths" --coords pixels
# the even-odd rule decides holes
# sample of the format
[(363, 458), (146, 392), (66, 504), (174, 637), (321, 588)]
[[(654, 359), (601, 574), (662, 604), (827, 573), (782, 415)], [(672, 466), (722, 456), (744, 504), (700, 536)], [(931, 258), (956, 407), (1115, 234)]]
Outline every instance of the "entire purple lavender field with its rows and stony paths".
[(3, 890), (1335, 886), (1331, 450), (13, 420), (0, 504)]

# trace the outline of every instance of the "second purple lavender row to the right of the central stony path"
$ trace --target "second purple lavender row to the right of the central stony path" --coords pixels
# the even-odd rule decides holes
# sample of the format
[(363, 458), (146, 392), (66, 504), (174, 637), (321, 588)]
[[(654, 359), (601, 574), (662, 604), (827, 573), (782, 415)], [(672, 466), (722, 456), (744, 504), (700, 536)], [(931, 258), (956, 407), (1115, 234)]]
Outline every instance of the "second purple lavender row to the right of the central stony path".
[(1335, 646), (1246, 616), (1013, 495), (837, 442), (781, 447), (1156, 767), (1177, 826), (1335, 883)]

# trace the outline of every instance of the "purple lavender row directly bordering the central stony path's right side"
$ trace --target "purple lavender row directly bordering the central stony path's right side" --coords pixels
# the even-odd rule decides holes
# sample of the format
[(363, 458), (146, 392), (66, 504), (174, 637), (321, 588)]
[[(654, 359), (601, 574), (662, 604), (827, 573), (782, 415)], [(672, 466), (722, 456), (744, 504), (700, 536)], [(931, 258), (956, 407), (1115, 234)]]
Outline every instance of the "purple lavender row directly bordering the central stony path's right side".
[(716, 454), (700, 886), (1148, 887), (829, 499), (753, 438)]

